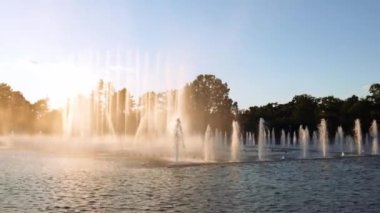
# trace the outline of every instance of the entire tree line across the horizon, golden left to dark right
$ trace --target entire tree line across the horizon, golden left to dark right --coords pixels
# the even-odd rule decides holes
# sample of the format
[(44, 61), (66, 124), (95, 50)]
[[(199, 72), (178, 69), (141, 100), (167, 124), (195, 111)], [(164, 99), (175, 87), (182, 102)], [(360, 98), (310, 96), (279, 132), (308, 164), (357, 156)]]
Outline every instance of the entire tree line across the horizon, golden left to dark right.
[[(307, 126), (311, 131), (316, 130), (321, 118), (327, 120), (330, 136), (335, 134), (339, 125), (345, 132), (351, 133), (356, 118), (361, 119), (364, 132), (369, 129), (372, 120), (380, 119), (378, 83), (371, 85), (369, 95), (362, 98), (353, 95), (342, 100), (334, 96), (316, 98), (302, 94), (294, 96), (288, 103), (268, 103), (242, 110), (229, 97), (229, 92), (228, 84), (214, 75), (199, 75), (186, 84), (181, 89), (181, 110), (189, 121), (188, 130), (203, 134), (207, 125), (210, 125), (212, 129), (230, 134), (232, 121), (237, 120), (242, 132), (255, 133), (259, 119), (264, 118), (267, 128), (273, 129), (279, 140), (281, 130), (293, 133), (300, 125)], [(68, 106), (77, 107), (77, 114), (87, 114), (91, 118), (89, 123), (79, 121), (93, 134), (133, 135), (137, 131), (146, 131), (138, 127), (141, 122), (149, 122), (144, 120), (143, 112), (151, 111), (159, 111), (158, 117), (162, 117), (159, 120), (162, 125), (156, 123), (160, 127), (156, 131), (165, 131), (168, 128), (163, 125), (165, 116), (173, 108), (171, 105), (178, 104), (178, 95), (176, 90), (147, 92), (136, 100), (127, 88), (116, 90), (112, 83), (100, 80), (88, 97), (79, 96), (75, 102), (68, 101), (62, 109), (52, 110), (48, 106), (48, 99), (31, 103), (20, 91), (14, 91), (9, 85), (1, 83), (0, 134), (60, 134), (66, 128), (64, 120), (71, 116), (69, 111), (65, 111)], [(83, 106), (87, 108), (81, 112)]]

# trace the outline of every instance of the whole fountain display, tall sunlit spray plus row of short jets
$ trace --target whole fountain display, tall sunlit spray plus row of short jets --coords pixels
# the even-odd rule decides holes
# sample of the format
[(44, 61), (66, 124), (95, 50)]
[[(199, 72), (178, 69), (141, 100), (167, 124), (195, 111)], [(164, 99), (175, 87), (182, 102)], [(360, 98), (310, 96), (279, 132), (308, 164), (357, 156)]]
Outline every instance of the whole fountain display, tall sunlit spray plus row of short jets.
[[(135, 61), (132, 63), (135, 63), (136, 67), (138, 67), (145, 62)], [(130, 67), (127, 68), (129, 69)], [(151, 89), (147, 86), (151, 84), (149, 82), (150, 78), (147, 78), (149, 73), (145, 74), (139, 68), (133, 70), (132, 79), (120, 77), (120, 81), (125, 82), (107, 83), (107, 81), (113, 79), (106, 78), (108, 74), (121, 76), (122, 72), (125, 72), (127, 68), (124, 71), (112, 71), (116, 73), (106, 74), (105, 71), (98, 69), (100, 75), (96, 79), (105, 79), (106, 81), (98, 82), (98, 84), (94, 82), (96, 85), (92, 85), (93, 90), (87, 91), (87, 96), (72, 96), (67, 100), (62, 109), (62, 132), (64, 137), (54, 138), (55, 141), (62, 141), (61, 144), (65, 144), (60, 145), (61, 147), (75, 144), (77, 141), (82, 144), (76, 144), (83, 147), (96, 147), (98, 144), (102, 144), (105, 147), (104, 149), (118, 150), (126, 155), (143, 156), (142, 158), (154, 157), (159, 160), (175, 162), (195, 160), (197, 162), (212, 162), (216, 161), (216, 159), (219, 162), (237, 162), (246, 156), (256, 158), (256, 151), (259, 160), (276, 159), (280, 152), (289, 152), (289, 155), (287, 155), (289, 158), (294, 156), (308, 158), (317, 144), (320, 146), (323, 157), (328, 157), (329, 155), (330, 147), (324, 119), (321, 120), (318, 128), (319, 136), (318, 132), (313, 131), (311, 134), (312, 140), (310, 140), (309, 130), (306, 126), (300, 126), (297, 132), (294, 131), (294, 126), (281, 124), (284, 129), (279, 131), (280, 129), (277, 129), (278, 126), (275, 124), (268, 124), (268, 126), (271, 126), (268, 128), (262, 118), (259, 121), (259, 131), (256, 132), (256, 137), (253, 132), (241, 134), (237, 121), (232, 122), (232, 132), (226, 132), (227, 128), (223, 129), (222, 132), (214, 128), (214, 126), (212, 128), (207, 126), (205, 132), (197, 132), (192, 135), (190, 134), (192, 133), (190, 131), (192, 120), (190, 115), (185, 113), (185, 101), (187, 100), (185, 91), (183, 89), (171, 90), (163, 88), (164, 92), (160, 93), (146, 92)], [(107, 66), (104, 67), (104, 70), (111, 72), (110, 67)], [(156, 73), (152, 78), (159, 76), (165, 76), (165, 74)], [(177, 81), (177, 79), (181, 79), (179, 76), (172, 75), (167, 75), (163, 78), (168, 78), (164, 79), (166, 81), (163, 85), (169, 83), (170, 80), (175, 79)], [(136, 83), (129, 84), (131, 82)], [(137, 90), (137, 92), (117, 89), (124, 86)], [(132, 93), (140, 97), (136, 100), (138, 103), (135, 106)], [(132, 123), (135, 126), (131, 127)], [(362, 147), (363, 140), (359, 119), (355, 121), (354, 132), (355, 143), (352, 146), (356, 145), (358, 155), (361, 155), (363, 150), (367, 150), (367, 147)], [(276, 144), (276, 134), (278, 134), (277, 139), (279, 139), (277, 143), (281, 144), (281, 148)], [(184, 147), (184, 137), (186, 137), (186, 149), (182, 148)], [(345, 140), (343, 137), (343, 129), (338, 127), (335, 143), (340, 146), (341, 152), (348, 150), (348, 146), (344, 147)], [(246, 147), (242, 144), (244, 139)], [(347, 145), (351, 146), (350, 140), (350, 138), (347, 139)], [(376, 121), (372, 122), (369, 141), (371, 142), (366, 144), (372, 145), (371, 153), (378, 154)], [(256, 145), (256, 142), (257, 147), (250, 146), (251, 144), (252, 146)], [(292, 145), (291, 148), (285, 148), (290, 145)], [(244, 150), (242, 150), (243, 148)], [(338, 148), (336, 147), (336, 149)], [(255, 152), (252, 152), (252, 150)], [(271, 151), (269, 152), (268, 150)], [(330, 151), (333, 151), (332, 148)], [(249, 156), (249, 154), (252, 156)], [(248, 157), (245, 159), (248, 159)]]

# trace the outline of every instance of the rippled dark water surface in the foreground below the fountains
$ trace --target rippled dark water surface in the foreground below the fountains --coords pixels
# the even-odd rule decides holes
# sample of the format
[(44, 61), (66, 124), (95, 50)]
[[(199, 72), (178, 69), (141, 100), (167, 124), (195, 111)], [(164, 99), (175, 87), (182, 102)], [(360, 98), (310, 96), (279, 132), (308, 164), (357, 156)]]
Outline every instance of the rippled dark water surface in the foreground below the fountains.
[(0, 212), (380, 212), (380, 157), (171, 166), (0, 151)]

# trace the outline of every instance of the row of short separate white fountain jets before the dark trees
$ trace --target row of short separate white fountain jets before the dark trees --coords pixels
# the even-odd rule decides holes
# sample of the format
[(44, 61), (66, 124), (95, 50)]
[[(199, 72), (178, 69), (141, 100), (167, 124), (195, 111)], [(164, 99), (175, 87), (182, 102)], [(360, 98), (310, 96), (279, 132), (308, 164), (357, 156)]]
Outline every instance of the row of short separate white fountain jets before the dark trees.
[[(302, 158), (311, 157), (311, 153), (314, 154), (313, 156), (322, 156), (323, 158), (332, 155), (336, 156), (337, 154), (341, 156), (346, 154), (378, 154), (378, 127), (376, 120), (372, 122), (369, 131), (370, 135), (366, 135), (365, 137), (365, 144), (371, 145), (368, 152), (365, 152), (363, 149), (363, 137), (359, 119), (355, 120), (353, 137), (345, 135), (343, 128), (339, 126), (336, 131), (335, 140), (332, 141), (333, 143), (331, 144), (329, 141), (327, 123), (325, 119), (321, 120), (318, 126), (318, 131), (313, 131), (311, 134), (307, 126), (301, 125), (298, 129), (298, 140), (296, 132), (293, 133), (293, 138), (291, 138), (290, 133), (286, 134), (285, 131), (282, 130), (280, 143), (276, 143), (274, 130), (272, 129), (272, 131), (269, 131), (265, 125), (264, 119), (262, 118), (259, 122), (258, 137), (256, 139), (257, 143), (255, 141), (254, 133), (251, 132), (245, 133), (244, 141), (237, 121), (234, 121), (232, 126), (233, 131), (230, 144), (231, 161), (239, 161), (242, 150), (247, 149), (248, 147), (254, 148), (253, 150), (257, 150), (255, 154), (257, 154), (258, 160), (270, 158), (271, 152), (273, 152), (274, 148), (279, 150), (277, 152), (284, 153), (287, 153), (289, 150), (298, 151), (298, 153), (301, 153), (300, 156)], [(203, 142), (205, 161), (210, 161), (210, 159), (215, 158), (215, 151), (211, 151), (215, 149), (215, 141), (222, 141), (224, 144), (227, 144), (227, 136), (223, 135), (218, 130), (213, 133), (211, 128), (208, 126)], [(283, 158), (285, 158), (285, 156), (283, 156)]]

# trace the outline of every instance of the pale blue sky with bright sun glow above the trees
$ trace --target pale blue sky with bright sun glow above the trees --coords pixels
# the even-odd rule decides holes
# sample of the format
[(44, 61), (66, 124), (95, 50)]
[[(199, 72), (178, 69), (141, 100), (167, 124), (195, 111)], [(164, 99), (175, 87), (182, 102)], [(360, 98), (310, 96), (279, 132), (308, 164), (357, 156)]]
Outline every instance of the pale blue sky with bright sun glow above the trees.
[(0, 0), (0, 82), (53, 107), (104, 78), (135, 96), (199, 74), (240, 108), (364, 97), (380, 82), (378, 0)]

